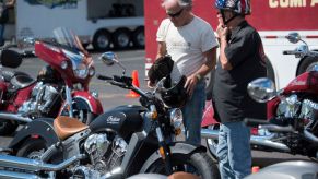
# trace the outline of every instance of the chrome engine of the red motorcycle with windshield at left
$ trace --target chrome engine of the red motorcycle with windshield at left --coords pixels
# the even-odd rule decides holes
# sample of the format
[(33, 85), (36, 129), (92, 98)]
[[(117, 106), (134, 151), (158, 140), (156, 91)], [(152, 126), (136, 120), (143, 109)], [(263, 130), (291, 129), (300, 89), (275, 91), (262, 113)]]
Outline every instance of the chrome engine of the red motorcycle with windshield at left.
[(59, 98), (56, 87), (50, 84), (38, 82), (31, 94), (31, 98), (23, 103), (17, 109), (19, 112), (42, 114), (47, 116)]

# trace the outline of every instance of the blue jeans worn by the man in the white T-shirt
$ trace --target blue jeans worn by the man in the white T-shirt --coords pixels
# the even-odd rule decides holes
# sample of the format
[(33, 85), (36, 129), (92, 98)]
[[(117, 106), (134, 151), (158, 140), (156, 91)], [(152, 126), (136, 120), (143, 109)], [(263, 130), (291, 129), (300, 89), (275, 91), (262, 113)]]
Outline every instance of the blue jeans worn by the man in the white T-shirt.
[(205, 82), (198, 82), (192, 97), (182, 107), (186, 141), (201, 145), (201, 121), (205, 106)]

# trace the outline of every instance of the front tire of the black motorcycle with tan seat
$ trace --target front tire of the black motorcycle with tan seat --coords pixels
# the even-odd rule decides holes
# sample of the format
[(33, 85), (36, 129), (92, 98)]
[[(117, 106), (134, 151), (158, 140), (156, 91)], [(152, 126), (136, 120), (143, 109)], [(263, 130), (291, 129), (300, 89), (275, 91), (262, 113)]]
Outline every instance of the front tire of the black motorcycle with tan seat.
[[(200, 176), (200, 178), (202, 179), (220, 178), (220, 172), (216, 164), (212, 162), (207, 153), (193, 153), (191, 155), (172, 154), (170, 159), (172, 166), (174, 168), (173, 172), (191, 172), (193, 175)], [(167, 175), (162, 158), (158, 158), (157, 160), (152, 163), (148, 168), (142, 167), (142, 170), (140, 172)]]

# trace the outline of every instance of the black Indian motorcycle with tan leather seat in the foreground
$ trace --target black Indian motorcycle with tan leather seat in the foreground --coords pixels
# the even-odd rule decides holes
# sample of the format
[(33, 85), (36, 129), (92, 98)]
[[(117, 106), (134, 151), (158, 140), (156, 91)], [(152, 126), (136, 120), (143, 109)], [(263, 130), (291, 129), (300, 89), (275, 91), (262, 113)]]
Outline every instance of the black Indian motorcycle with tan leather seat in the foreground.
[[(101, 59), (122, 67), (113, 52), (103, 53)], [(11, 155), (0, 155), (0, 178), (127, 178), (139, 172), (176, 171), (220, 178), (205, 147), (175, 140), (181, 131), (182, 114), (177, 107), (165, 106), (163, 94), (170, 90), (162, 87), (165, 80), (154, 92), (143, 92), (125, 71), (121, 76), (97, 77), (136, 92), (141, 106), (116, 107), (89, 126), (62, 116), (27, 123), (11, 142)], [(177, 85), (185, 82), (182, 79)], [(161, 97), (156, 96), (158, 91)]]

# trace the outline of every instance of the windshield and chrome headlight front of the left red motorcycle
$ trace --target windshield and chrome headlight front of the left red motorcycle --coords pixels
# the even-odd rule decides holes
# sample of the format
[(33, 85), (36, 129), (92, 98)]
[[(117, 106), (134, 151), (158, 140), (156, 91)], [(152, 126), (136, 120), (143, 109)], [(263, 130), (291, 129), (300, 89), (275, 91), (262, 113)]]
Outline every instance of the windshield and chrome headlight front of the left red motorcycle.
[(85, 79), (89, 73), (89, 68), (93, 64), (92, 58), (87, 58), (82, 52), (83, 47), (80, 38), (66, 27), (54, 29), (55, 39), (61, 45), (63, 53), (72, 62), (74, 74), (80, 79)]

